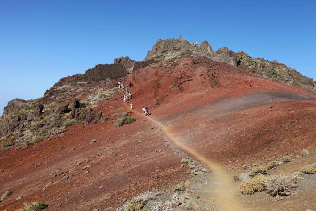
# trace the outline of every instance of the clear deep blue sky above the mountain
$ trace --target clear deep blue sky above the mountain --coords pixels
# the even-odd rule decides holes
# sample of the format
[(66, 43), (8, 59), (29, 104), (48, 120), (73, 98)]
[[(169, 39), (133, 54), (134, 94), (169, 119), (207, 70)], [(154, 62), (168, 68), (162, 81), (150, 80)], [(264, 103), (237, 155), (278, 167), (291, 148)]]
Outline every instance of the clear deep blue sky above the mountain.
[(179, 34), (316, 79), (313, 0), (0, 0), (0, 115), (11, 99), (41, 97), (60, 78), (120, 56), (142, 60), (157, 39)]

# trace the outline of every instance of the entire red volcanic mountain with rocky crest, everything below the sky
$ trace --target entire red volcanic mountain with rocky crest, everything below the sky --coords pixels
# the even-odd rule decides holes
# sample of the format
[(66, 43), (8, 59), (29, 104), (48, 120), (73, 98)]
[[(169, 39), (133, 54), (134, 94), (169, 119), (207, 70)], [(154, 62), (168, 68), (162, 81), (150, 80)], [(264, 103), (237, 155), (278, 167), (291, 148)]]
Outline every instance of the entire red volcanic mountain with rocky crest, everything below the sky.
[(159, 39), (8, 102), (0, 206), (315, 209), (315, 91), (276, 60)]

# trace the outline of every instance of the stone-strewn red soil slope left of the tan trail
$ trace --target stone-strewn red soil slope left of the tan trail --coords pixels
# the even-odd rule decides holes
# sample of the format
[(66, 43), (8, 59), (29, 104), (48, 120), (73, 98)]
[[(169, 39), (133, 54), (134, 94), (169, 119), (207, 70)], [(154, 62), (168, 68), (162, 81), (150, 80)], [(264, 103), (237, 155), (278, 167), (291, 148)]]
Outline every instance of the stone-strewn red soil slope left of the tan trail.
[[(165, 147), (165, 135), (158, 126), (142, 115), (130, 114), (136, 122), (114, 127), (112, 114), (128, 111), (117, 100), (121, 95), (116, 93), (95, 108), (109, 115), (106, 122), (70, 126), (61, 138), (1, 154), (1, 191), (12, 192), (1, 202), (3, 209), (15, 210), (23, 202), (40, 200), (49, 205), (47, 210), (116, 207), (124, 198), (154, 187), (169, 188), (185, 177), (186, 170), (180, 169), (181, 158)], [(92, 139), (97, 142), (90, 143)], [(81, 164), (76, 166), (78, 162)], [(90, 167), (83, 169), (86, 165)], [(64, 174), (69, 178), (61, 181)], [(20, 195), (22, 199), (16, 200)]]

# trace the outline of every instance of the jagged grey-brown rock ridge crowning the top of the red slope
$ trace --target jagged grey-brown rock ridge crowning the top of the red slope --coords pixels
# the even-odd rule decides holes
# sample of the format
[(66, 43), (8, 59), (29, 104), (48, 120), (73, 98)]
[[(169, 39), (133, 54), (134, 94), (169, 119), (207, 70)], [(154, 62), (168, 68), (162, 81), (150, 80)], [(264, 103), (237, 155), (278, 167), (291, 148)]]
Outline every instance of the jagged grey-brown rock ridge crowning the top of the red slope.
[(214, 52), (207, 41), (203, 41), (199, 46), (197, 42), (189, 43), (181, 36), (178, 39), (157, 40), (152, 50), (148, 51), (146, 59), (161, 57), (170, 59), (184, 54), (206, 56), (213, 61), (240, 67), (258, 77), (316, 91), (316, 82), (313, 79), (276, 60), (271, 62), (262, 58), (252, 58), (245, 52), (235, 53), (227, 47), (219, 48)]

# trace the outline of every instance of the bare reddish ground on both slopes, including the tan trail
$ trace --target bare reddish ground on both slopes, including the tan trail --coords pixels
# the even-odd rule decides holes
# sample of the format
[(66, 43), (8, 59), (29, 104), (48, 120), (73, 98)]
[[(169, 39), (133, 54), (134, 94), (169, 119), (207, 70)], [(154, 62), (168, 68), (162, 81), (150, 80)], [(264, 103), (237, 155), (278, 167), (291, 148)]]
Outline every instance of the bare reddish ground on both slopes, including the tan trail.
[[(180, 169), (180, 158), (165, 147), (165, 138), (211, 170), (204, 177), (208, 182), (201, 192), (209, 203), (205, 208), (314, 208), (312, 202), (300, 202), (303, 198), (314, 199), (302, 194), (310, 189), (307, 185), (286, 200), (272, 202), (264, 200), (265, 193), (241, 195), (239, 183), (231, 179), (232, 173), (247, 171), (244, 166), (249, 169), (269, 162), (271, 157), (294, 157), (302, 148), (315, 149), (314, 94), (253, 77), (224, 63), (190, 56), (139, 69), (126, 83), (134, 94), (131, 116), (138, 121), (119, 128), (111, 121), (85, 127), (79, 124), (69, 127), (62, 138), (34, 145), (37, 148), (1, 154), (0, 187), (13, 192), (1, 203), (4, 209), (14, 210), (23, 202), (37, 200), (45, 200), (48, 210), (109, 208), (153, 187), (173, 187), (188, 178), (187, 169)], [(173, 83), (177, 86), (169, 88)], [(122, 93), (116, 93), (111, 100), (101, 101), (95, 111), (103, 111), (110, 118), (127, 111), (130, 102), (124, 105), (121, 97)], [(139, 114), (144, 106), (150, 109), (148, 117)], [(70, 135), (72, 131), (75, 133)], [(91, 144), (92, 139), (97, 142)], [(76, 166), (78, 160), (82, 164)], [(84, 174), (87, 170), (83, 166), (88, 164), (89, 173)], [(291, 165), (294, 169), (301, 163), (295, 161), (284, 168)], [(70, 170), (75, 171), (67, 173)], [(62, 172), (69, 178), (60, 181)], [(313, 178), (310, 176), (307, 183), (315, 185)], [(50, 181), (53, 183), (43, 190)], [(15, 200), (19, 195), (23, 198)]]

